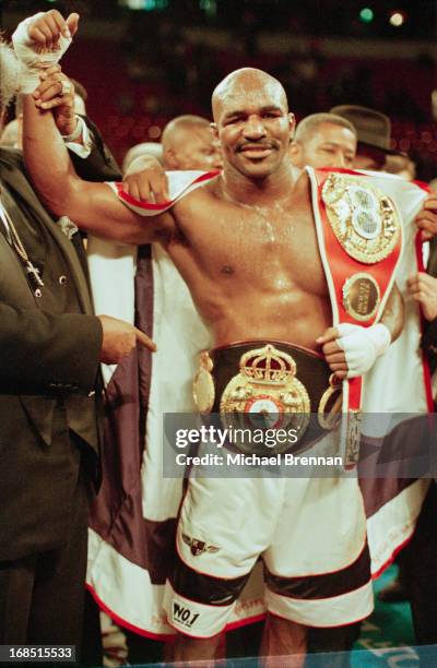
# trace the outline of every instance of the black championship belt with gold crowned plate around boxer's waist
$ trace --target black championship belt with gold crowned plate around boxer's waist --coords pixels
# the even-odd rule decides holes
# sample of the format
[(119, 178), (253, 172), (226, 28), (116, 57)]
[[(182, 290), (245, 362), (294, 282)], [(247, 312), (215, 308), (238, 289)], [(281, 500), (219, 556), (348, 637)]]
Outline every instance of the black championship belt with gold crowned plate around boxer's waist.
[(340, 394), (321, 355), (281, 341), (237, 342), (202, 353), (194, 380), (203, 414), (220, 414), (240, 427), (295, 428), (295, 446), (273, 452), (299, 452), (332, 429)]

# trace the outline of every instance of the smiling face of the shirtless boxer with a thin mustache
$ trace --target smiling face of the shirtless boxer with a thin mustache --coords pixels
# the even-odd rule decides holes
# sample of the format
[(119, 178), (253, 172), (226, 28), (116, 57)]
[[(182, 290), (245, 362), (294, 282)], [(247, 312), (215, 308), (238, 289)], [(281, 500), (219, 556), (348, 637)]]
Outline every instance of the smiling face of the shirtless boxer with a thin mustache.
[(260, 77), (236, 82), (216, 105), (215, 121), (225, 168), (265, 178), (287, 154), (294, 117), (275, 82)]

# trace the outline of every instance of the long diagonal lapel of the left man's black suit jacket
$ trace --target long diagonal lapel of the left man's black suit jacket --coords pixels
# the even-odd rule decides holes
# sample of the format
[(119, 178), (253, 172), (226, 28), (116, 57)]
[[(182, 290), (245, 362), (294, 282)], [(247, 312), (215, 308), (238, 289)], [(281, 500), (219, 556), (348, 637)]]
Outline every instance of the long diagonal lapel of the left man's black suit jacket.
[[(2, 167), (4, 163), (2, 160)], [(19, 165), (11, 168), (12, 166), (7, 159), (5, 167), (7, 168), (3, 167), (1, 170), (1, 178), (10, 186), (12, 191), (15, 190), (15, 192), (21, 195), (21, 198), (26, 202), (28, 208), (33, 211), (35, 217), (47, 227), (48, 231), (60, 247), (60, 250), (71, 272), (71, 276), (75, 283), (81, 307), (84, 313), (91, 314), (93, 312), (93, 307), (91, 303), (88, 286), (73, 244), (43, 207), (35, 192), (31, 188), (26, 177), (19, 168)]]

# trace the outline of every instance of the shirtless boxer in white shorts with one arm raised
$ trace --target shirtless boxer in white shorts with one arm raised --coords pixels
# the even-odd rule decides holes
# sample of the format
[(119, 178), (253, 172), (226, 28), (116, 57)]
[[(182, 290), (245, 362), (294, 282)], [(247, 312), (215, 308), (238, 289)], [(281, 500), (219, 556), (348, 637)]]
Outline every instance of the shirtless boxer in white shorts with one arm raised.
[[(354, 326), (346, 335), (329, 327), (331, 307), (308, 177), (296, 177), (287, 158), (294, 118), (281, 84), (259, 70), (234, 72), (214, 91), (213, 115), (223, 174), (146, 220), (121, 204), (107, 186), (79, 179), (51, 115), (40, 114), (32, 96), (25, 99), (27, 166), (54, 213), (68, 214), (79, 227), (118, 241), (162, 243), (189, 286), (215, 346), (232, 349), (229, 342), (249, 341), (250, 349), (282, 342), (277, 349), (286, 355), (294, 354), (293, 346), (304, 346), (312, 369), (323, 365), (315, 355), (322, 346), (331, 370), (344, 378), (351, 375), (352, 365), (342, 346), (347, 353), (352, 339), (357, 351), (352, 374), (364, 373), (398, 336), (401, 308), (393, 291), (385, 324)], [(168, 200), (158, 165), (151, 167), (140, 195), (156, 203)], [(316, 505), (306, 503), (305, 510), (311, 493)], [(249, 535), (241, 530), (246, 525)], [(218, 550), (196, 553), (194, 540)], [(261, 553), (272, 612), (265, 656), (303, 654), (307, 625), (347, 623), (371, 610), (365, 518), (354, 480), (194, 478), (181, 509), (177, 548), (166, 604), (170, 623), (185, 634), (179, 635), (176, 659), (214, 655), (233, 603)], [(309, 598), (303, 594), (304, 580), (312, 589)], [(192, 637), (178, 623), (181, 608), (189, 610), (190, 619), (199, 619)]]

